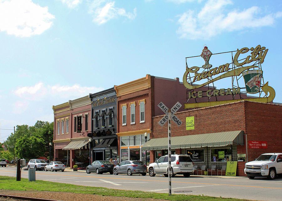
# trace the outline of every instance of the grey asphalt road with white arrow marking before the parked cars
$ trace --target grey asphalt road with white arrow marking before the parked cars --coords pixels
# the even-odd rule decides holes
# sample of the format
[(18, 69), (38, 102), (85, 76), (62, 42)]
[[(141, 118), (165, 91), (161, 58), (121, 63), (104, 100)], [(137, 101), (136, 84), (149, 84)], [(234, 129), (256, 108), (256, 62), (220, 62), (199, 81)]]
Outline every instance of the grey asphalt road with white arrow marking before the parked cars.
[[(15, 167), (0, 167), (1, 176), (16, 177)], [(28, 178), (28, 171), (22, 170), (22, 178)], [(168, 178), (162, 175), (150, 177), (109, 173), (87, 174), (86, 172), (44, 172), (36, 171), (37, 180), (71, 183), (75, 185), (107, 187), (124, 190), (141, 190), (157, 193), (168, 193)], [(251, 200), (281, 200), (282, 177), (274, 180), (266, 178), (248, 179), (247, 177), (198, 176), (189, 178), (175, 176), (172, 178), (172, 193), (208, 195), (224, 198), (240, 198)]]

